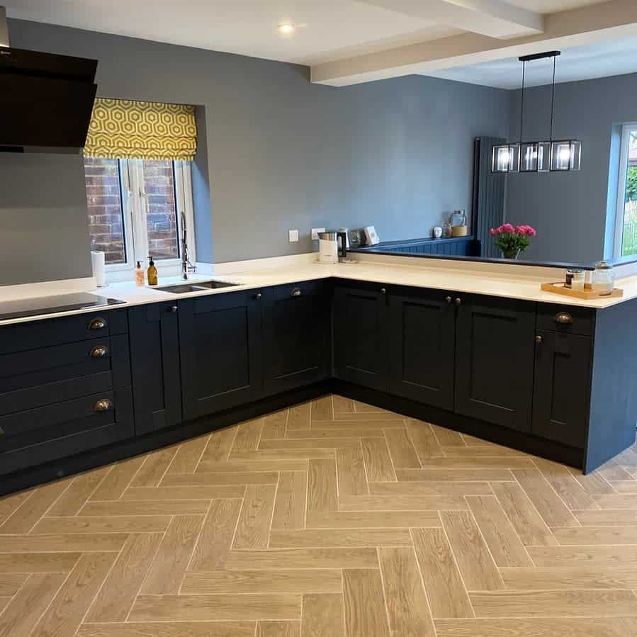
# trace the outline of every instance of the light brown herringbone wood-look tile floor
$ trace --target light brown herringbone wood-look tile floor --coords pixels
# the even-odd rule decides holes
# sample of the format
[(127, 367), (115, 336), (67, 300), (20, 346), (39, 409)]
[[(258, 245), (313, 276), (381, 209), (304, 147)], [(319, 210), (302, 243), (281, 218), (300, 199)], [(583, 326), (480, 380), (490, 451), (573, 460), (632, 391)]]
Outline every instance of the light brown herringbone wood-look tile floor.
[(339, 396), (0, 500), (0, 637), (637, 635), (637, 453)]

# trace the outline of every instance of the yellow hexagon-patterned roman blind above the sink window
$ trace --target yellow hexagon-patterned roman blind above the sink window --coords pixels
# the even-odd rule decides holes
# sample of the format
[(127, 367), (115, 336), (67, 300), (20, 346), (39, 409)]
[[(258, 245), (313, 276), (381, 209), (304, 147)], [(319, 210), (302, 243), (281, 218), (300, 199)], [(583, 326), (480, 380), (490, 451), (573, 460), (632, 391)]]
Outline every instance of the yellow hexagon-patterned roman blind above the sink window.
[(194, 106), (96, 98), (86, 157), (192, 160), (196, 150)]

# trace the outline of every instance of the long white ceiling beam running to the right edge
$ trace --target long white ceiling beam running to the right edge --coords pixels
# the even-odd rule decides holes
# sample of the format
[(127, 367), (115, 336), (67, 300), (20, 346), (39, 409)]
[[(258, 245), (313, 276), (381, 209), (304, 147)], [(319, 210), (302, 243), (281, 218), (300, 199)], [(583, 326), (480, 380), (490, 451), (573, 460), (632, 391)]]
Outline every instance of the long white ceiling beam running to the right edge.
[(637, 35), (635, 0), (609, 0), (544, 16), (544, 31), (541, 34), (502, 40), (478, 33), (462, 33), (316, 64), (311, 69), (311, 77), (315, 84), (348, 86), (631, 35)]

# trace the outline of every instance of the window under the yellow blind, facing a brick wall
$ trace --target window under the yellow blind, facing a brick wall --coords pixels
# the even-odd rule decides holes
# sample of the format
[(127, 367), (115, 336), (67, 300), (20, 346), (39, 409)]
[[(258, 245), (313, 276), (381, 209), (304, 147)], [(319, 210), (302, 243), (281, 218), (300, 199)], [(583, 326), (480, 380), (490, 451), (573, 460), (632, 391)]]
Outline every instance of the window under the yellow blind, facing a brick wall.
[(106, 254), (110, 281), (130, 277), (152, 255), (162, 274), (178, 274), (181, 213), (195, 261), (190, 162), (85, 157), (91, 247)]

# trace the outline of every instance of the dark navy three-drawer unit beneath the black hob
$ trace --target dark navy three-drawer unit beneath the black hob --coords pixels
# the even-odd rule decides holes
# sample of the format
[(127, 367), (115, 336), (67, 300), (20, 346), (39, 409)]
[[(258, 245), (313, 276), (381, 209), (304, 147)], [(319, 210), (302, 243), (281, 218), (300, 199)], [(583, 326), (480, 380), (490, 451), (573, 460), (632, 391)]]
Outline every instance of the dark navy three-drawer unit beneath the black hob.
[(125, 310), (0, 329), (0, 474), (134, 435)]

